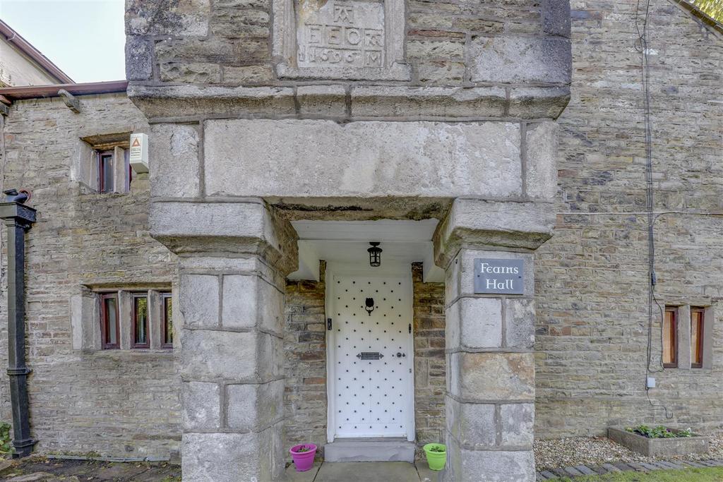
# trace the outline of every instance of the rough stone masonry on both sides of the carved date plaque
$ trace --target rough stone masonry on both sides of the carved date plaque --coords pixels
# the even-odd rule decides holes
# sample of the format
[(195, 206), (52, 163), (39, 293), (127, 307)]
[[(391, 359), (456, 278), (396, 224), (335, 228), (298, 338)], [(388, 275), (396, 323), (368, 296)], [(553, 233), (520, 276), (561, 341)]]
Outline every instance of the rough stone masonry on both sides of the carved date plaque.
[[(129, 1), (128, 79), (244, 86), (278, 83), (282, 80), (278, 75), (282, 60), (274, 56), (276, 48), (269, 39), (277, 43), (282, 30), (291, 28), (291, 22), (273, 25), (283, 16), (281, 3)], [(302, 1), (297, 9), (304, 14), (315, 13), (325, 3)], [(557, 55), (560, 59), (569, 56), (569, 41), (565, 39), (569, 32), (567, 2), (411, 1), (406, 12), (402, 2), (401, 12), (394, 12), (397, 18), (393, 21), (402, 26), (406, 22), (400, 42), (411, 67), (406, 79), (411, 85), (469, 86), (508, 82), (510, 76), (521, 83), (568, 82), (567, 68), (558, 69), (560, 64), (549, 62)], [(391, 43), (393, 39), (385, 40)], [(528, 62), (509, 61), (522, 46), (529, 46)], [(485, 51), (507, 61), (491, 61)], [(543, 52), (547, 62), (529, 63)], [(510, 64), (515, 64), (515, 72), (505, 70)]]

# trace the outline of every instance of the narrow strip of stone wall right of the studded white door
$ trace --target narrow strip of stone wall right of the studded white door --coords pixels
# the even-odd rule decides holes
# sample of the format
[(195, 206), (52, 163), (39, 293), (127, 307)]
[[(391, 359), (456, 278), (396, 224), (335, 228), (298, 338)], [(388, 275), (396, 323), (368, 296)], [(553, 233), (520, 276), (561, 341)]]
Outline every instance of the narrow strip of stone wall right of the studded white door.
[(414, 423), (421, 447), (445, 439), (445, 285), (422, 282), (422, 263), (412, 264), (414, 290)]

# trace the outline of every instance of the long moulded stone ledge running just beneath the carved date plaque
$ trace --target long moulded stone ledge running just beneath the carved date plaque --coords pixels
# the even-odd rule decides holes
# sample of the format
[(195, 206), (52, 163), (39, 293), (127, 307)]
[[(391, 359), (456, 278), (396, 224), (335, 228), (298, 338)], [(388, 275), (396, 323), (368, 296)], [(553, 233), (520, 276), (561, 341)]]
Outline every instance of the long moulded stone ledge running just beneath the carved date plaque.
[(556, 119), (570, 100), (564, 87), (151, 86), (132, 82), (128, 96), (150, 122), (207, 117), (264, 119), (482, 121)]

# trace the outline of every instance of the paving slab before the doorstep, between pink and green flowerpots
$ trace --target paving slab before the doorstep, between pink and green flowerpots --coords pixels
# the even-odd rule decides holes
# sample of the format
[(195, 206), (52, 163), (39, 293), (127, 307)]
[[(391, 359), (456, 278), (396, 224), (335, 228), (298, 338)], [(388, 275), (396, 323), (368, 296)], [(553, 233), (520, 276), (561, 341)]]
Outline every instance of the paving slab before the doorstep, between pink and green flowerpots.
[(314, 482), (419, 482), (408, 462), (325, 462)]

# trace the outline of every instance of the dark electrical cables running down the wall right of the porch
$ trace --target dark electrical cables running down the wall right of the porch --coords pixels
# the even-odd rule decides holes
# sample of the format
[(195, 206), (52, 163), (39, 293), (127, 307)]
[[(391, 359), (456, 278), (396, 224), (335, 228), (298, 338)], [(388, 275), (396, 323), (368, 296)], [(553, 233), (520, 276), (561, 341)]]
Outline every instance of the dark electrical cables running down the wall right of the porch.
[(668, 411), (667, 406), (653, 403), (650, 398), (650, 387), (648, 386), (648, 376), (651, 373), (657, 373), (664, 370), (662, 358), (660, 360), (660, 369), (653, 370), (651, 368), (652, 345), (653, 345), (653, 304), (660, 311), (660, 350), (663, 351), (663, 309), (655, 297), (655, 236), (654, 223), (656, 216), (654, 215), (654, 186), (653, 186), (653, 142), (652, 142), (652, 126), (650, 112), (650, 64), (648, 59), (648, 20), (650, 14), (650, 0), (646, 0), (645, 13), (641, 21), (640, 15), (641, 1), (636, 4), (635, 27), (638, 33), (638, 43), (636, 50), (641, 52), (641, 83), (643, 85), (643, 119), (645, 130), (645, 174), (646, 174), (646, 207), (648, 218), (648, 345), (647, 345), (647, 361), (646, 361), (646, 384), (645, 392), (648, 402), (653, 408), (663, 408), (665, 410), (665, 418), (673, 418), (672, 411)]

